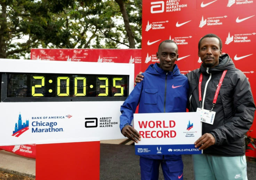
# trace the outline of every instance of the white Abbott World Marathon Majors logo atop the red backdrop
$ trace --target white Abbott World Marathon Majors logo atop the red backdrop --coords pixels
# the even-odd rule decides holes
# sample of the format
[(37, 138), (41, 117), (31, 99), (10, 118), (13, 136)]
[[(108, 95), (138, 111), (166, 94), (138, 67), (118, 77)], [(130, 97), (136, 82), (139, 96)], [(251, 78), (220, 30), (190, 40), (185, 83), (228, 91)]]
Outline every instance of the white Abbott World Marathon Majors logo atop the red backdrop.
[[(166, 1), (155, 1), (150, 3), (151, 14), (162, 13), (162, 12), (175, 12), (181, 11), (187, 7), (187, 4), (181, 3), (181, 0), (166, 0)], [(166, 5), (166, 7), (165, 7)]]

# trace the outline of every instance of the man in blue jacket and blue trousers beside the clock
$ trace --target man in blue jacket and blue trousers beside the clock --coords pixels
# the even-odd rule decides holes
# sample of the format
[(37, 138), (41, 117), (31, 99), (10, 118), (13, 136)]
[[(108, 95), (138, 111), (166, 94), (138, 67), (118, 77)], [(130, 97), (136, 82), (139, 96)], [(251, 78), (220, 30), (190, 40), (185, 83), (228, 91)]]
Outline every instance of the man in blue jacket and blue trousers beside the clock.
[[(120, 130), (125, 137), (138, 142), (139, 133), (131, 126), (133, 114), (139, 104), (139, 113), (186, 112), (189, 84), (175, 64), (178, 47), (172, 40), (159, 44), (157, 58), (143, 73), (144, 80), (135, 86), (121, 106)], [(181, 155), (141, 155), (142, 180), (156, 180), (161, 164), (165, 180), (183, 179)]]

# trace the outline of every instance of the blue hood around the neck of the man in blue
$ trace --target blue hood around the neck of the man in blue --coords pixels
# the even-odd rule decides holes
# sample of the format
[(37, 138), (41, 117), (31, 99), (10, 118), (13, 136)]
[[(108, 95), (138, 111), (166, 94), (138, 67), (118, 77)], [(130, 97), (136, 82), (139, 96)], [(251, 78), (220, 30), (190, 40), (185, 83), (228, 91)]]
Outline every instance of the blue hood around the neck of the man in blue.
[[(149, 65), (145, 72), (153, 75), (166, 76), (166, 71), (159, 67), (159, 63)], [(168, 71), (168, 75), (170, 76), (178, 76), (180, 74), (181, 72), (176, 64), (174, 65), (173, 71)]]

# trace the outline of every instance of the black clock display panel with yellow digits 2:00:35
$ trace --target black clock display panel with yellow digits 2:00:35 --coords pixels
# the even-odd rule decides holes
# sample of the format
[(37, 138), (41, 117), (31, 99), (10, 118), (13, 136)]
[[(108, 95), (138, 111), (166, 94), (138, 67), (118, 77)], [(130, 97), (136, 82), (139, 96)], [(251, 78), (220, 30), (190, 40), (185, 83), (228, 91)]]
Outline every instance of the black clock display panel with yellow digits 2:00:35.
[(2, 73), (1, 101), (120, 101), (128, 82), (129, 75)]

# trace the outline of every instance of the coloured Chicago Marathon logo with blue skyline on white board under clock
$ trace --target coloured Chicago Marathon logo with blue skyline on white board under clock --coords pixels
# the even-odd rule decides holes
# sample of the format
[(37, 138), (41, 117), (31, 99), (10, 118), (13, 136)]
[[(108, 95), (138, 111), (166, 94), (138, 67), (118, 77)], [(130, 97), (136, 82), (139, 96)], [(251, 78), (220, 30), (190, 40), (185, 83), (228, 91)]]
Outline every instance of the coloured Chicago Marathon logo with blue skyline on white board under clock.
[[(66, 118), (71, 118), (72, 115), (65, 115)], [(45, 116), (45, 117), (32, 117), (32, 133), (36, 132), (62, 132), (63, 128), (55, 128), (57, 127), (57, 122), (42, 122), (40, 119), (65, 119), (64, 116)], [(41, 128), (43, 127), (43, 128)], [(26, 119), (26, 122), (22, 122), (21, 113), (19, 113), (18, 122), (15, 123), (15, 128), (12, 136), (19, 137), (24, 132), (29, 130), (29, 120)]]

